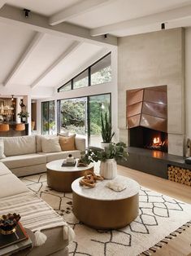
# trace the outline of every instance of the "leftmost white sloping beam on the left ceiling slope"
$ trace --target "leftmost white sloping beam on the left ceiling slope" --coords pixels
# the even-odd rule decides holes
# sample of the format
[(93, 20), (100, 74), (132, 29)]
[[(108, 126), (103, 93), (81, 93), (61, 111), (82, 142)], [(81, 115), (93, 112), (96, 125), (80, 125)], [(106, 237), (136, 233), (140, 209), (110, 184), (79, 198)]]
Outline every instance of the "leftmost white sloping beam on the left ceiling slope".
[(15, 77), (15, 75), (19, 72), (20, 68), (24, 65), (26, 60), (28, 60), (29, 55), (31, 55), (31, 53), (37, 47), (37, 44), (40, 42), (43, 35), (44, 35), (43, 33), (39, 33), (39, 32), (36, 33), (32, 42), (30, 42), (29, 46), (21, 56), (20, 60), (15, 64), (15, 67), (11, 70), (11, 73), (8, 74), (5, 82), (3, 82), (4, 86), (7, 86), (11, 82), (11, 79)]

